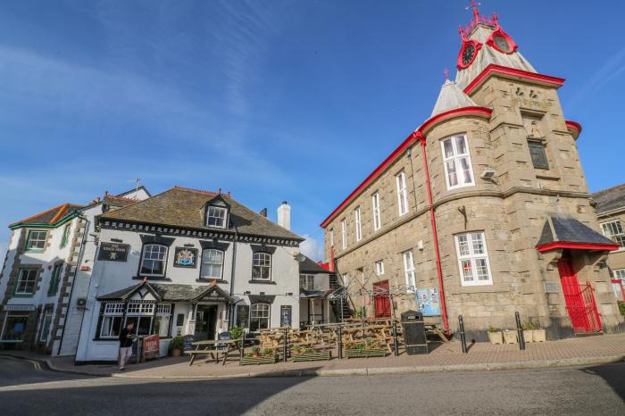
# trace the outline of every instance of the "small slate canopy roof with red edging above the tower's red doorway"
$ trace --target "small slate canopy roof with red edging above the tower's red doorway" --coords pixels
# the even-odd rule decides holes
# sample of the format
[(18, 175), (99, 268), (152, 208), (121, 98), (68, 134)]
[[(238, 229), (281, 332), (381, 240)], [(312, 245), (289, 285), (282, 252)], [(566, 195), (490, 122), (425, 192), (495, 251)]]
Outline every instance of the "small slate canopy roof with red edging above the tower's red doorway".
[(550, 214), (547, 216), (543, 231), (540, 233), (537, 245), (554, 242), (609, 244), (614, 242), (600, 233), (582, 224), (579, 220), (568, 215)]

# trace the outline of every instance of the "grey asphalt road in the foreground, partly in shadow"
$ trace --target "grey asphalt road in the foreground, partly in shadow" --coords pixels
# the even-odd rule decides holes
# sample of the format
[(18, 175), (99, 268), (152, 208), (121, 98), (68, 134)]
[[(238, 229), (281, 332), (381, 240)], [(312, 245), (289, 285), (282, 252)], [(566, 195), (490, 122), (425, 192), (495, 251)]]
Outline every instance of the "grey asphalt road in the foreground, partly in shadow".
[(373, 377), (139, 380), (0, 358), (0, 414), (625, 414), (625, 363)]

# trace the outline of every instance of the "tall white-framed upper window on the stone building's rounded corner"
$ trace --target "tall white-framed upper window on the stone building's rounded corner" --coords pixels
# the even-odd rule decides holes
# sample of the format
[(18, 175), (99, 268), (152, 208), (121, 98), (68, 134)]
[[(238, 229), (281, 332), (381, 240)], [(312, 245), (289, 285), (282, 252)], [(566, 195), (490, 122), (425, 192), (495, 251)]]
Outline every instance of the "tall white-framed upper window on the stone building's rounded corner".
[(447, 137), (441, 140), (440, 146), (443, 151), (447, 189), (475, 185), (467, 136), (462, 134)]

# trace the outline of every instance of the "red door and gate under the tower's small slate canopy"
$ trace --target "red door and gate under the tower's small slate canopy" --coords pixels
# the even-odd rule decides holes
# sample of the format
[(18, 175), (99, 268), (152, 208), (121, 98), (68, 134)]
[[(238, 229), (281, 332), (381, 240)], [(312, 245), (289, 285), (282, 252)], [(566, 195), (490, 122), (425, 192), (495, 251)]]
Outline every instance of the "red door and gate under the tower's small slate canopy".
[(589, 282), (579, 285), (578, 275), (569, 259), (558, 262), (558, 271), (566, 310), (569, 312), (573, 329), (583, 332), (600, 331), (602, 324), (599, 311), (596, 309), (593, 287)]

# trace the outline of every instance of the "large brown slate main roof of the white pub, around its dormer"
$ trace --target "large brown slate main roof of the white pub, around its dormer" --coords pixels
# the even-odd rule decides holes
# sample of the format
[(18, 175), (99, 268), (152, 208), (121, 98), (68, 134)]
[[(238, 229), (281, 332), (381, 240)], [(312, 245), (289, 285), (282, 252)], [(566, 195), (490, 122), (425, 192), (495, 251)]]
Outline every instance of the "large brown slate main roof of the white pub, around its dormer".
[[(100, 221), (125, 220), (183, 229), (211, 229), (204, 226), (204, 209), (217, 196), (219, 194), (212, 192), (172, 187), (144, 201), (106, 212), (100, 216)], [(229, 228), (224, 229), (224, 232), (234, 232), (236, 229), (238, 234), (304, 241), (304, 238), (246, 208), (231, 197), (222, 197), (229, 204), (230, 221)]]

